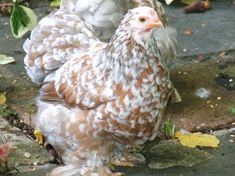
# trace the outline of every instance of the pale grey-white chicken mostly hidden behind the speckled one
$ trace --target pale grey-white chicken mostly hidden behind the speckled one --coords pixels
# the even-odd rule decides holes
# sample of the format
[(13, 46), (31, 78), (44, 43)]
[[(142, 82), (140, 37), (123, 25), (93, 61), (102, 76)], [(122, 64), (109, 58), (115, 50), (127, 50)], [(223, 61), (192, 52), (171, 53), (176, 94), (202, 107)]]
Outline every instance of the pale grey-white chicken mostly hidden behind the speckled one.
[(165, 11), (158, 0), (62, 0), (61, 9), (79, 14), (91, 24), (101, 40), (109, 40), (128, 9), (147, 5), (154, 8), (166, 25)]

